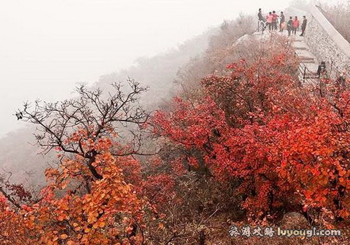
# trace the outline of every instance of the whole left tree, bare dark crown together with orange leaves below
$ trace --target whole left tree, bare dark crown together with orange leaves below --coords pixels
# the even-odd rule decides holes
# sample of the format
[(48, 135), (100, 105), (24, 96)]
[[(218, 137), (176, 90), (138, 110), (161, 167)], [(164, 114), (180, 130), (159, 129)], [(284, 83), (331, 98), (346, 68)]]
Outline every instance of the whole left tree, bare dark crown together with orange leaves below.
[[(113, 84), (113, 94), (78, 87), (74, 99), (37, 101), (18, 112), (37, 125), (35, 137), (43, 153), (54, 150), (59, 157), (45, 172), (49, 183), (40, 200), (16, 202), (11, 194), (1, 196), (8, 217), (1, 222), (19, 221), (27, 239), (18, 239), (18, 244), (144, 244), (147, 202), (130, 182), (141, 177), (132, 156), (149, 154), (141, 152), (149, 113), (137, 105), (146, 88), (128, 82), (128, 88)], [(15, 230), (5, 235), (13, 239)]]

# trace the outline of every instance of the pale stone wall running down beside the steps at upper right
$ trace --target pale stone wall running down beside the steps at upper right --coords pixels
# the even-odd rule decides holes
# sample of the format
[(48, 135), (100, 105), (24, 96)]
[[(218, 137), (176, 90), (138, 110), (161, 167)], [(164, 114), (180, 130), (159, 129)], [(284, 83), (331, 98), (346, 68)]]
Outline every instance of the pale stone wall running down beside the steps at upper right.
[(305, 42), (316, 55), (318, 62), (324, 61), (333, 78), (339, 73), (350, 75), (350, 43), (330, 24), (318, 7), (309, 6)]

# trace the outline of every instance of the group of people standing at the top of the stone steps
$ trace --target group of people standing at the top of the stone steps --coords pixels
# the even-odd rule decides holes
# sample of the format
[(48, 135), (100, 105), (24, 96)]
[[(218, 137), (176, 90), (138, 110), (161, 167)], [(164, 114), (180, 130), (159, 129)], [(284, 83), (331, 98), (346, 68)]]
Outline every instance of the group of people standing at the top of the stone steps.
[[(304, 15), (302, 18), (303, 18), (302, 25), (301, 25), (302, 33), (300, 34), (300, 36), (304, 36), (304, 32), (307, 26), (306, 16)], [(277, 30), (279, 27), (279, 31), (281, 32), (283, 32), (284, 29), (287, 29), (288, 36), (290, 36), (290, 34), (297, 34), (297, 31), (299, 30), (299, 27), (300, 27), (300, 21), (297, 18), (297, 16), (295, 16), (294, 18), (290, 16), (289, 20), (286, 21), (286, 16), (284, 15), (283, 11), (281, 11), (280, 15), (277, 15), (276, 11), (272, 11), (272, 12), (269, 12), (269, 14), (266, 17), (264, 17), (262, 15), (261, 8), (259, 8), (258, 20), (259, 20), (258, 28), (261, 26), (262, 33), (267, 28), (269, 29), (269, 31), (272, 31), (272, 30)]]

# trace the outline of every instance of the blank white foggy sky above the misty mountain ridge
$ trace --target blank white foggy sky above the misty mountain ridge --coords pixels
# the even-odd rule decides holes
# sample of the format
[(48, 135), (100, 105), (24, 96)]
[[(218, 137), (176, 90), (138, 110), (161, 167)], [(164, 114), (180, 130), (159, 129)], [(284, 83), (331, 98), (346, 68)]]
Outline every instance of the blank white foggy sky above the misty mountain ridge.
[(0, 8), (0, 137), (22, 102), (71, 96), (78, 82), (127, 69), (208, 27), (289, 0), (10, 0)]

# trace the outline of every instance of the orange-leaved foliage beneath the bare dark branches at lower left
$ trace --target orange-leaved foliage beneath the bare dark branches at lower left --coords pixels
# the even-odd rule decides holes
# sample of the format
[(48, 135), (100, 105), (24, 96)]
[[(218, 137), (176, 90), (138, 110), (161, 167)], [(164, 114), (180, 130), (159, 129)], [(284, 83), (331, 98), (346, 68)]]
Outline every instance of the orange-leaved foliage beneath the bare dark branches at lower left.
[[(47, 169), (50, 183), (39, 202), (15, 210), (1, 198), (1, 244), (141, 244), (144, 202), (125, 182), (122, 169), (137, 162), (111, 155), (108, 138), (85, 137), (80, 130), (69, 140), (80, 140), (83, 147), (99, 152), (92, 166), (102, 178), (94, 179), (83, 157), (76, 155)], [(132, 173), (139, 174), (137, 169)]]

